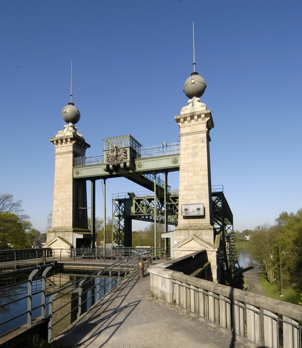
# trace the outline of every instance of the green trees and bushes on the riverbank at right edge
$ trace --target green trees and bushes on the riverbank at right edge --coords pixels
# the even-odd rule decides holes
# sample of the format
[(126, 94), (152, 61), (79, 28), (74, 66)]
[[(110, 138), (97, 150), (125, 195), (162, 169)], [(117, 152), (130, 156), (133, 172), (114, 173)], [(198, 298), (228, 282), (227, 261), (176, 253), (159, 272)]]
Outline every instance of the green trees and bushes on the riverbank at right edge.
[(283, 212), (273, 225), (265, 223), (234, 236), (236, 246), (248, 248), (259, 264), (265, 295), (301, 305), (302, 209)]

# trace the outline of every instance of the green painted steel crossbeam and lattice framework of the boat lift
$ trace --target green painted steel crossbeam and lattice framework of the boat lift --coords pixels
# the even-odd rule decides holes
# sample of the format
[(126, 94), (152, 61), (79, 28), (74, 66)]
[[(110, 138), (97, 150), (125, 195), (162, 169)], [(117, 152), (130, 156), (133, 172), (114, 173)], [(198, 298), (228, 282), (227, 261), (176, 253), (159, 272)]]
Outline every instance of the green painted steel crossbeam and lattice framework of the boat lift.
[[(113, 243), (132, 246), (132, 219), (165, 224), (166, 232), (168, 225), (177, 226), (178, 192), (170, 192), (167, 175), (179, 171), (179, 142), (163, 142), (161, 146), (142, 148), (132, 135), (122, 135), (104, 139), (103, 151), (104, 155), (76, 157), (74, 179), (103, 179), (105, 182), (108, 178), (125, 177), (153, 193), (143, 196), (129, 193), (125, 197), (113, 198)], [(165, 175), (164, 181), (157, 175), (159, 173)], [(218, 278), (232, 284), (238, 278), (239, 269), (233, 215), (221, 187), (213, 189), (212, 201), (213, 224), (221, 236)]]

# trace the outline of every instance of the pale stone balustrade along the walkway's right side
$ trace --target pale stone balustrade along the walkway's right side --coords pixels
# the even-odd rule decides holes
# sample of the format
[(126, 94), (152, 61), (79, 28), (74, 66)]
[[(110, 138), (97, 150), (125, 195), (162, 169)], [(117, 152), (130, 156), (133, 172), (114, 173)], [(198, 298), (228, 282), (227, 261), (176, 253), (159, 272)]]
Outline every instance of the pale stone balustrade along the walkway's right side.
[[(198, 256), (198, 252), (194, 254)], [(192, 254), (188, 257), (194, 260)], [(183, 259), (188, 263), (186, 257)], [(149, 268), (150, 292), (156, 298), (186, 309), (255, 347), (302, 347), (301, 306), (173, 271), (174, 262), (179, 260)]]

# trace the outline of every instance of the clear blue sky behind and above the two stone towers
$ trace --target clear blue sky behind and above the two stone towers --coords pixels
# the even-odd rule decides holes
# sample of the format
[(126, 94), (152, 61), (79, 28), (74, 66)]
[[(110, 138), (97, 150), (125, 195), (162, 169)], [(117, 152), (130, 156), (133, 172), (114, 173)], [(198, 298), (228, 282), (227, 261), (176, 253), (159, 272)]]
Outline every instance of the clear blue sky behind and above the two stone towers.
[[(61, 109), (78, 132), (132, 134), (143, 146), (176, 142), (188, 98), (192, 22), (196, 71), (207, 81), (213, 185), (224, 185), (234, 228), (273, 223), (302, 208), (302, 3), (298, 0), (0, 0), (0, 192), (22, 199), (35, 228), (52, 210)], [(178, 187), (177, 175), (170, 186)], [(102, 217), (102, 187), (97, 215)], [(110, 194), (143, 191), (107, 180)]]

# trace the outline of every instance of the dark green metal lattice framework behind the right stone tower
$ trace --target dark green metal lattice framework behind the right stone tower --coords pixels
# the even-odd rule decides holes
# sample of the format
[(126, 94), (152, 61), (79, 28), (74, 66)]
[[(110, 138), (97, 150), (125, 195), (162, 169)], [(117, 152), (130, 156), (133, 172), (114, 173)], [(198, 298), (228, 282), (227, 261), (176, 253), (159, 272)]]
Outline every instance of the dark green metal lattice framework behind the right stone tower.
[[(234, 285), (242, 279), (242, 274), (234, 244), (233, 214), (223, 189), (212, 192), (212, 202), (213, 223), (216, 233), (220, 234), (220, 279), (222, 283)], [(178, 193), (167, 195), (166, 209), (167, 224), (177, 226)], [(165, 204), (161, 198), (156, 199), (156, 214), (154, 214), (154, 196), (113, 199), (113, 242), (123, 245), (125, 234), (132, 233), (125, 229), (126, 218), (154, 222), (154, 215), (156, 223), (165, 223)]]

